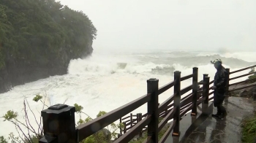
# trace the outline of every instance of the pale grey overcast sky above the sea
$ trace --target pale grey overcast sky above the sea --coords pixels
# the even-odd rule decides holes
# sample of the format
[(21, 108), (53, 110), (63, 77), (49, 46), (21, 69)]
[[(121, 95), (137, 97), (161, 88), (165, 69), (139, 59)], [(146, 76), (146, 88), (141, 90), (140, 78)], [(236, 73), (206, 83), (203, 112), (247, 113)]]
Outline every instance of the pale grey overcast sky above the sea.
[(57, 0), (82, 10), (94, 50), (256, 50), (256, 0)]

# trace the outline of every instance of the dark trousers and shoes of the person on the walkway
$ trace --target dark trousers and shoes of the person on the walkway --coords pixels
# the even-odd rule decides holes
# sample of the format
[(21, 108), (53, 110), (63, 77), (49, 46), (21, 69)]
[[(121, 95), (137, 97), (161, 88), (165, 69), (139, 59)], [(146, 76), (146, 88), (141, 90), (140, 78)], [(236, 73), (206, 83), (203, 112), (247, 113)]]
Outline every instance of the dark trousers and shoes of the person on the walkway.
[(227, 115), (225, 107), (222, 106), (224, 98), (225, 93), (214, 90), (214, 107), (217, 107), (217, 114), (213, 115), (214, 117), (223, 118)]

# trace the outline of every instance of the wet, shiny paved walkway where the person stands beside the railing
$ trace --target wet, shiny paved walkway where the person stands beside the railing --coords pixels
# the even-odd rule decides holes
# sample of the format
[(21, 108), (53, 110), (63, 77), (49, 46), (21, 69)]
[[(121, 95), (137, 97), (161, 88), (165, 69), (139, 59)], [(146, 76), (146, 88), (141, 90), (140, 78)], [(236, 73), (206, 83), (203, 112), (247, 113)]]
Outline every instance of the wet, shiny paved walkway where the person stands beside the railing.
[[(227, 117), (221, 120), (208, 117), (195, 131), (192, 131), (186, 143), (235, 143), (241, 142), (241, 121), (256, 109), (256, 101), (248, 98), (227, 97), (223, 103), (227, 110)], [(217, 108), (214, 107), (214, 113)]]

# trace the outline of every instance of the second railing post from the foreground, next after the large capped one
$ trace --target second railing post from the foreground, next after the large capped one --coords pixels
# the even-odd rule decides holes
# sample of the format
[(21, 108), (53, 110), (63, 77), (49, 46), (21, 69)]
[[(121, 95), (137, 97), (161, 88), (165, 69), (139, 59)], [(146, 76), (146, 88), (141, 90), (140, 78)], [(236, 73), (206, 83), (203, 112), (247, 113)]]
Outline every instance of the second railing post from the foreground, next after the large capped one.
[(158, 82), (157, 79), (147, 80), (147, 93), (151, 93), (151, 98), (148, 101), (148, 115), (152, 119), (148, 123), (148, 136), (151, 136), (151, 142), (158, 142)]

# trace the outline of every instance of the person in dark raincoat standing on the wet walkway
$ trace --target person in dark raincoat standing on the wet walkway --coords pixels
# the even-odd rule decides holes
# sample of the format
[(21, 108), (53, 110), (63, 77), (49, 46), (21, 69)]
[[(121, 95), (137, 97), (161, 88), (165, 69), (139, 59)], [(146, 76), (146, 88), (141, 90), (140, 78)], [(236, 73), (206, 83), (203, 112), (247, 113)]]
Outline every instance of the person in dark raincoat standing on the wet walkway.
[(217, 114), (213, 114), (212, 116), (222, 119), (227, 115), (225, 107), (222, 106), (226, 92), (227, 71), (222, 66), (220, 59), (211, 61), (211, 63), (213, 63), (214, 67), (217, 69), (214, 76), (214, 86), (211, 87), (211, 89), (214, 90), (214, 107), (217, 107)]

